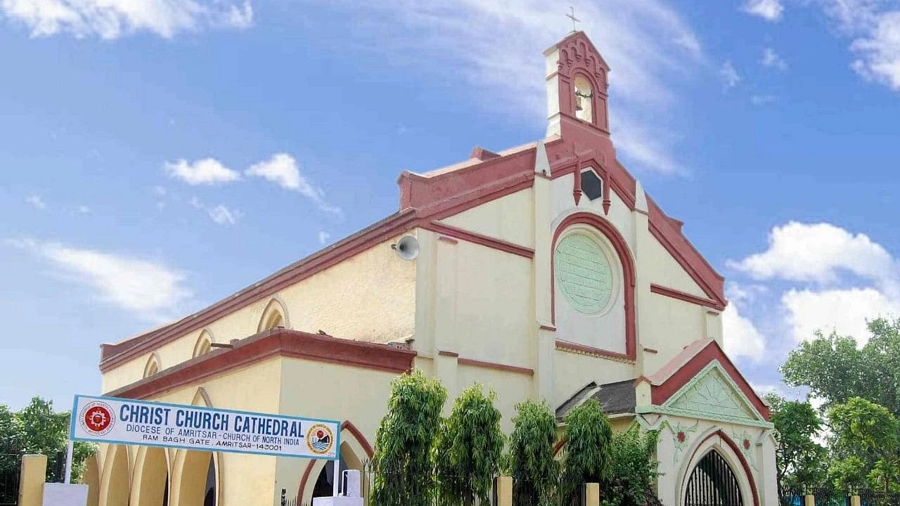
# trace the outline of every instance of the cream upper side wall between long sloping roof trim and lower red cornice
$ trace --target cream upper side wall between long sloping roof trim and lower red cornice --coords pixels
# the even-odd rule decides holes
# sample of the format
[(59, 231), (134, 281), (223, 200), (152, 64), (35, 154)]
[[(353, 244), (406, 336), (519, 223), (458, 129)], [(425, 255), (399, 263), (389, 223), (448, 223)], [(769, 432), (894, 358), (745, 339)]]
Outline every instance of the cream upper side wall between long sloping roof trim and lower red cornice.
[[(415, 329), (415, 262), (397, 257), (394, 238), (347, 258), (276, 296), (287, 310), (287, 326), (293, 330), (373, 342), (410, 337)], [(265, 297), (231, 312), (207, 328), (217, 342), (243, 339), (257, 333), (260, 318), (272, 297)], [(202, 329), (157, 348), (161, 368), (191, 358)], [(103, 374), (103, 392), (110, 392), (141, 378), (149, 353)]]

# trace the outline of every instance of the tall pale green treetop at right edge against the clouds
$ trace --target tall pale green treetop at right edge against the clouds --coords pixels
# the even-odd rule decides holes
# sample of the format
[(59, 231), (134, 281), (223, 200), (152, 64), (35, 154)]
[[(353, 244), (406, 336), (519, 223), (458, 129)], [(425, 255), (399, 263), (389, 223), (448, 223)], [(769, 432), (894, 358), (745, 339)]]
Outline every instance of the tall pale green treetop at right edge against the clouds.
[(869, 321), (869, 341), (815, 332), (815, 339), (790, 352), (781, 366), (785, 382), (808, 386), (824, 401), (823, 410), (861, 397), (900, 415), (900, 319)]

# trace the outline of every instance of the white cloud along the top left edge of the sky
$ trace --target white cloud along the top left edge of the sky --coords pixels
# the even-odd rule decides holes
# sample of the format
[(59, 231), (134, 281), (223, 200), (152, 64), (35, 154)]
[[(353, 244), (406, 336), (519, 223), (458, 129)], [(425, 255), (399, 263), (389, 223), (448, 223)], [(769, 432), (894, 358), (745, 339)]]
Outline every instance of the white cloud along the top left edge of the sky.
[(247, 0), (0, 0), (0, 14), (23, 23), (32, 37), (68, 33), (106, 40), (136, 32), (169, 39), (179, 32), (244, 29), (253, 23)]

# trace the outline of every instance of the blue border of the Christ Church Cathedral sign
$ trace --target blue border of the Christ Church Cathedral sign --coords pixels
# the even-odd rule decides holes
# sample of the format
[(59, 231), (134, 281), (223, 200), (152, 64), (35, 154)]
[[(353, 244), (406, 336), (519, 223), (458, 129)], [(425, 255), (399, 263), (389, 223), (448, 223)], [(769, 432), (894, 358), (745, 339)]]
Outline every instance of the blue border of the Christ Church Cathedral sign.
[[(236, 414), (247, 414), (247, 415), (257, 415), (257, 416), (267, 416), (267, 417), (276, 417), (276, 418), (286, 418), (290, 420), (302, 420), (302, 421), (317, 421), (320, 423), (334, 423), (338, 427), (337, 438), (335, 438), (335, 456), (309, 456), (309, 455), (291, 455), (285, 453), (275, 453), (275, 452), (257, 452), (250, 450), (234, 450), (234, 449), (212, 449), (205, 447), (184, 447), (180, 445), (161, 445), (159, 443), (135, 443), (133, 441), (120, 441), (116, 439), (102, 439), (102, 438), (75, 438), (75, 421), (77, 418), (77, 408), (78, 408), (78, 399), (96, 399), (101, 401), (114, 401), (114, 402), (138, 402), (142, 404), (154, 404), (157, 406), (168, 406), (171, 408), (189, 408), (192, 410), (201, 410), (201, 411), (217, 411), (217, 412), (228, 412), (228, 413), (236, 413)], [(321, 418), (304, 418), (300, 416), (293, 415), (283, 415), (277, 413), (262, 413), (259, 411), (241, 411), (241, 410), (228, 410), (228, 409), (219, 409), (219, 408), (211, 408), (209, 406), (194, 406), (193, 404), (174, 404), (172, 402), (154, 402), (154, 401), (141, 401), (139, 399), (129, 399), (126, 397), (109, 397), (106, 395), (82, 395), (76, 393), (75, 399), (72, 401), (72, 415), (71, 420), (69, 421), (68, 426), (68, 438), (72, 441), (88, 441), (91, 443), (106, 443), (111, 445), (128, 445), (130, 447), (160, 447), (160, 448), (181, 448), (185, 450), (194, 450), (194, 451), (208, 451), (211, 453), (220, 452), (220, 453), (242, 453), (247, 455), (266, 455), (266, 456), (285, 456), (288, 458), (309, 458), (312, 460), (338, 460), (340, 458), (340, 431), (341, 431), (341, 423), (338, 420), (327, 420)], [(304, 437), (305, 438), (305, 437)]]

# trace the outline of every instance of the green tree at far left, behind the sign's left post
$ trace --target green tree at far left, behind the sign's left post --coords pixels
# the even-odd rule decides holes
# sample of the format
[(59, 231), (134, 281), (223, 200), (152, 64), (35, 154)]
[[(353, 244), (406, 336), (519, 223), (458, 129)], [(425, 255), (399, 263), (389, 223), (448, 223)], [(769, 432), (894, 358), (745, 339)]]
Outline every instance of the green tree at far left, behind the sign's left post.
[[(58, 481), (65, 464), (68, 444), (69, 411), (54, 411), (53, 402), (34, 397), (20, 411), (0, 405), (0, 451), (7, 454), (41, 454), (48, 457), (47, 479)], [(77, 480), (93, 444), (76, 441), (72, 456), (72, 476)]]

